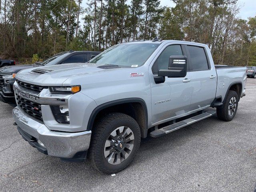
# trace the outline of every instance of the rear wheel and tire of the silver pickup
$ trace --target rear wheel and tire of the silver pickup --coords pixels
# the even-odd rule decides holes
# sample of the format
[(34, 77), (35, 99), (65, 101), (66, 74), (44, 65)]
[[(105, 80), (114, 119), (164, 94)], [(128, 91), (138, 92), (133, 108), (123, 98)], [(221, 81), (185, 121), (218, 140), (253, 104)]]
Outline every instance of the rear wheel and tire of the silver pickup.
[(218, 119), (223, 121), (231, 121), (238, 108), (238, 95), (235, 91), (229, 90), (226, 100), (222, 108), (217, 108)]

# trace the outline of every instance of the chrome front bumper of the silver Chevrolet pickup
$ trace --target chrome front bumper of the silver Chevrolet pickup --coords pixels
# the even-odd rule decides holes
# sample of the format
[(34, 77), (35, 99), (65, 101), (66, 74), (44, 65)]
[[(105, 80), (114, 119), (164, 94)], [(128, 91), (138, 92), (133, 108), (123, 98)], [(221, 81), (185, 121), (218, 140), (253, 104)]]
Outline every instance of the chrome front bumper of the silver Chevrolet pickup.
[[(19, 129), (25, 134), (36, 138), (35, 141), (39, 145), (42, 142), (47, 150), (49, 156), (55, 156), (59, 158), (71, 159), (76, 156), (79, 152), (88, 150), (90, 146), (91, 131), (83, 132), (60, 132), (51, 131), (45, 124), (37, 122), (36, 120), (30, 118), (27, 114), (22, 112), (20, 108), (15, 107), (12, 110), (14, 121), (17, 123)], [(21, 133), (21, 131), (19, 130)], [(35, 147), (39, 145), (34, 145)], [(37, 147), (38, 148), (38, 147)], [(41, 151), (38, 148), (39, 151)], [(42, 151), (41, 151), (42, 152)]]

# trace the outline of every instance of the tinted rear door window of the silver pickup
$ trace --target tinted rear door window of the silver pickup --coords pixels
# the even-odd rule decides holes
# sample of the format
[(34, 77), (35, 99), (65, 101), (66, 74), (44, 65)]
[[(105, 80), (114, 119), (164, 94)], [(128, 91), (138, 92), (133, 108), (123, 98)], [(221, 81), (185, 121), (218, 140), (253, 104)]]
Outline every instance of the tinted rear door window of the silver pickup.
[(204, 48), (196, 46), (187, 46), (190, 54), (191, 70), (207, 70), (208, 62), (204, 52)]

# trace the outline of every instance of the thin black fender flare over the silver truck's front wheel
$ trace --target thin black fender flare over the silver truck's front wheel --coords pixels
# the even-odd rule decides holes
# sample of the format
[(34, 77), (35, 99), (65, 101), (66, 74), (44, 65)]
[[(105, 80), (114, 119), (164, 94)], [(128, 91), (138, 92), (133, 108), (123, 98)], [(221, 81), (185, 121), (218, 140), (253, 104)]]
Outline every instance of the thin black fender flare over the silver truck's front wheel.
[(125, 99), (118, 99), (118, 100), (114, 100), (114, 101), (110, 101), (110, 102), (106, 102), (104, 104), (101, 104), (99, 106), (97, 106), (93, 111), (92, 111), (92, 114), (90, 115), (90, 118), (89, 118), (89, 121), (88, 121), (88, 125), (87, 125), (87, 130), (92, 130), (92, 126), (93, 126), (93, 123), (94, 123), (94, 120), (97, 116), (97, 114), (103, 110), (103, 109), (106, 109), (108, 107), (111, 107), (111, 106), (115, 106), (115, 105), (118, 105), (118, 104), (126, 104), (126, 103), (140, 103), (143, 107), (143, 110), (144, 110), (144, 115), (145, 115), (145, 128), (144, 130), (142, 130), (142, 137), (145, 138), (147, 136), (147, 132), (148, 132), (148, 110), (147, 110), (147, 106), (146, 106), (146, 102), (141, 99), (141, 98), (125, 98)]

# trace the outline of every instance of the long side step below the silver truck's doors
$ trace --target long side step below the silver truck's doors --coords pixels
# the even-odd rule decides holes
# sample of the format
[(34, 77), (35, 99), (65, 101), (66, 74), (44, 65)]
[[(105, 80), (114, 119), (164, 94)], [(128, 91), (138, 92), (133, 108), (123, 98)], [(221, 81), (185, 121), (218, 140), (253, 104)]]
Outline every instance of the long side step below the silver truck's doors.
[(198, 122), (200, 120), (203, 120), (205, 118), (213, 116), (214, 114), (216, 114), (216, 111), (208, 110), (207, 112), (204, 112), (200, 115), (185, 119), (183, 121), (180, 121), (178, 123), (174, 123), (172, 125), (168, 125), (166, 127), (160, 128), (158, 130), (154, 130), (154, 131), (150, 132), (150, 136), (151, 137), (160, 137), (160, 136), (166, 135), (166, 134), (168, 134), (170, 132), (173, 132), (173, 131), (176, 131), (176, 130), (182, 128), (182, 127), (188, 126), (190, 124), (193, 124), (193, 123)]

